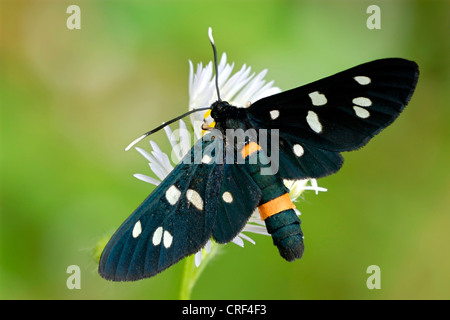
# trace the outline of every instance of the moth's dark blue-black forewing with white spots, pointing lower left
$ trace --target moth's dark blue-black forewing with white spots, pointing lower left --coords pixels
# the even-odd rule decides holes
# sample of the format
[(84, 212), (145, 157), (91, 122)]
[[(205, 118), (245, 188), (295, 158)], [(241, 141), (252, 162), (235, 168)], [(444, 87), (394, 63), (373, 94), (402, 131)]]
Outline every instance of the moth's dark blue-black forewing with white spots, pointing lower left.
[(207, 190), (222, 180), (223, 171), (221, 164), (201, 161), (202, 149), (211, 143), (200, 140), (120, 226), (100, 258), (102, 277), (115, 281), (151, 277), (197, 252), (211, 238), (216, 217), (211, 202), (217, 199)]

